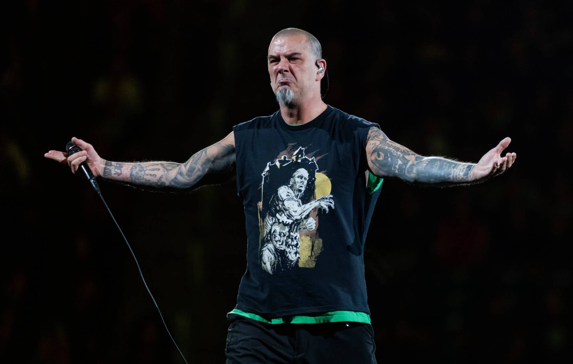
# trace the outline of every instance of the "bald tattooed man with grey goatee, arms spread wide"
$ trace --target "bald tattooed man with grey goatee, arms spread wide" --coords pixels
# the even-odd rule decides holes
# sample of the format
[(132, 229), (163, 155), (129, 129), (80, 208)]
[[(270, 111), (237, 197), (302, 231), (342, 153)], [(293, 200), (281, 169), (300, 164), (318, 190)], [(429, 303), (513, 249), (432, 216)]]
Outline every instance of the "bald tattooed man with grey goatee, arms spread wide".
[[(388, 139), (378, 124), (324, 104), (320, 80), (326, 67), (312, 34), (294, 28), (278, 32), (269, 46), (268, 71), (280, 111), (238, 124), (185, 163), (111, 162), (76, 138), (82, 152), (69, 158), (58, 151), (45, 154), (74, 173), (87, 161), (99, 177), (179, 190), (236, 169), (248, 264), (237, 306), (227, 315), (227, 363), (375, 363), (363, 248), (380, 179), (476, 183), (515, 162), (515, 153), (501, 156), (509, 138), (477, 164), (415, 154)], [(327, 213), (335, 202), (336, 209)], [(289, 228), (304, 218), (304, 229)], [(271, 274), (272, 257), (289, 238), (299, 239), (300, 256), (291, 255), (289, 269)]]

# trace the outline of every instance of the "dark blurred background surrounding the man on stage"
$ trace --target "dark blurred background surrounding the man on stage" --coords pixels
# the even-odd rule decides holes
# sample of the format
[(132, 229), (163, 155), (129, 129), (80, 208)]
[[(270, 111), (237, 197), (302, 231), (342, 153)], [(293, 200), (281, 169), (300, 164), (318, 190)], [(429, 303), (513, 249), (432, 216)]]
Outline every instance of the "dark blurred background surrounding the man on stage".
[[(3, 3), (2, 362), (182, 362), (97, 195), (44, 152), (77, 136), (113, 161), (185, 161), (278, 109), (265, 56), (288, 26), (323, 46), (324, 101), (396, 142), (477, 162), (510, 136), (517, 153), (480, 185), (384, 181), (364, 253), (378, 362), (568, 362), (567, 3)], [(222, 363), (246, 264), (235, 186), (100, 185), (187, 359)]]

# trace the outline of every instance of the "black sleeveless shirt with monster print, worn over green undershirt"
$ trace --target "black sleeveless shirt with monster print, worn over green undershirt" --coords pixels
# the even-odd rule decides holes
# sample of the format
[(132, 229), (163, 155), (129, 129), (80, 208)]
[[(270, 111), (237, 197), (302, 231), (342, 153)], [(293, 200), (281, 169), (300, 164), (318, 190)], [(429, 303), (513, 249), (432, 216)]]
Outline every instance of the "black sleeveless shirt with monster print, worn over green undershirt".
[(300, 126), (277, 111), (233, 127), (247, 233), (238, 310), (370, 314), (363, 252), (380, 194), (366, 186), (372, 126), (327, 106)]

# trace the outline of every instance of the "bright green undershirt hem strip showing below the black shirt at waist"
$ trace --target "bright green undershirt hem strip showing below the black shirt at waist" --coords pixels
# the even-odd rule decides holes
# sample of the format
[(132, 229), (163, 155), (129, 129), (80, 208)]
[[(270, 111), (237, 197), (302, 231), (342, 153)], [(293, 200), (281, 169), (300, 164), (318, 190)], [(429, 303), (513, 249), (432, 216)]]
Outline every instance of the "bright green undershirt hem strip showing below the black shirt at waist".
[(354, 311), (332, 311), (332, 312), (320, 312), (316, 315), (297, 315), (297, 316), (285, 316), (274, 319), (265, 319), (256, 314), (250, 314), (249, 312), (243, 312), (233, 308), (229, 314), (237, 314), (241, 316), (248, 317), (249, 319), (257, 320), (264, 323), (270, 324), (280, 324), (280, 323), (323, 323), (323, 322), (363, 322), (370, 323), (370, 315), (364, 312), (354, 312)]

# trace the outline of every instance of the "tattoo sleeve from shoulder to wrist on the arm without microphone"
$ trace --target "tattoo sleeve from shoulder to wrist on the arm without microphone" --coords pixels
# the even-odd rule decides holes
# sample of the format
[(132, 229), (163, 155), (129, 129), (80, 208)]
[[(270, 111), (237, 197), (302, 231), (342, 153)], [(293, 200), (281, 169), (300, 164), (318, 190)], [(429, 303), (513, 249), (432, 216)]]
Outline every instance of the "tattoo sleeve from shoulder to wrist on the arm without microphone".
[(376, 127), (368, 132), (368, 165), (379, 177), (397, 177), (423, 185), (470, 183), (473, 163), (460, 163), (438, 156), (421, 156), (394, 143)]

